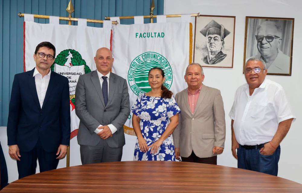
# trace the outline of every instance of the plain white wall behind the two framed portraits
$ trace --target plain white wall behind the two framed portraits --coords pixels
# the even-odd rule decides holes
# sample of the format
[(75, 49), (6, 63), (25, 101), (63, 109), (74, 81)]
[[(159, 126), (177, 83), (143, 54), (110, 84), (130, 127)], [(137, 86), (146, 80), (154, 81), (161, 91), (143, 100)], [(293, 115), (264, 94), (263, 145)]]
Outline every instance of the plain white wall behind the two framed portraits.
[[(193, 14), (203, 15), (230, 15), (236, 16), (235, 45), (233, 69), (204, 68), (204, 84), (221, 90), (226, 113), (226, 142), (225, 150), (218, 156), (217, 163), (223, 166), (236, 167), (236, 159), (231, 153), (231, 129), (228, 116), (234, 100), (236, 89), (246, 83), (243, 69), (244, 30), (246, 16), (259, 17), (290, 17), (294, 22), (294, 46), (292, 76), (272, 76), (269, 78), (281, 84), (287, 92), (291, 106), (297, 120), (292, 124), (288, 135), (281, 142), (281, 157), (278, 176), (302, 183), (302, 153), (301, 136), (301, 78), (302, 65), (299, 60), (302, 43), (302, 14), (300, 0), (165, 0), (165, 14)], [(167, 18), (168, 21), (177, 21), (180, 18)], [(191, 17), (194, 27), (194, 17)], [(194, 34), (194, 33), (193, 33)], [(194, 40), (194, 39), (193, 39)], [(172, 48), (171, 48), (172, 49)]]

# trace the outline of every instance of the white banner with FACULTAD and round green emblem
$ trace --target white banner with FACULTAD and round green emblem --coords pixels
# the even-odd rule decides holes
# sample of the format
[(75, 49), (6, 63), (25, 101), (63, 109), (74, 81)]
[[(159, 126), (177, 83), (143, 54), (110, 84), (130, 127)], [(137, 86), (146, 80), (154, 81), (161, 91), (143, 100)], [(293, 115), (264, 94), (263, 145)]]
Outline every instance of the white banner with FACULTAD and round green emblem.
[[(184, 75), (189, 64), (188, 22), (116, 25), (112, 30), (112, 71), (127, 80), (130, 108), (139, 93), (151, 90), (148, 71), (153, 67), (164, 70), (165, 86), (174, 95), (187, 87)], [(129, 135), (135, 135), (132, 115), (130, 113), (124, 127)]]

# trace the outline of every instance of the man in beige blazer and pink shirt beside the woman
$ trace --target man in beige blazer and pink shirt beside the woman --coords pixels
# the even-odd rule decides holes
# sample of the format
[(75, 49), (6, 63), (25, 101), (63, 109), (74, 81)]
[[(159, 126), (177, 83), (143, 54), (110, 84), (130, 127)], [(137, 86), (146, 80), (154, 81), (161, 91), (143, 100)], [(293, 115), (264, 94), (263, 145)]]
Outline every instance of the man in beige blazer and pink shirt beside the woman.
[(223, 152), (226, 126), (220, 90), (202, 84), (203, 69), (192, 63), (186, 69), (188, 88), (176, 94), (181, 109), (173, 132), (176, 159), (217, 165)]

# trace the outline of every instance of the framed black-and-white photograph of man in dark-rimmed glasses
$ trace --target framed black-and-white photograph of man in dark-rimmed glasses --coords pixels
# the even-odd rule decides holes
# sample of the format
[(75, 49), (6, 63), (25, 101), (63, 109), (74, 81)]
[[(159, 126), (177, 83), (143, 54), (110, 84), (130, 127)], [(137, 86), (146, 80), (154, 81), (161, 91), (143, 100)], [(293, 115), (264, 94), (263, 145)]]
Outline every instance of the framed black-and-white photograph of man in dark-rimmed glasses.
[(264, 60), (268, 75), (291, 76), (294, 18), (246, 16), (244, 59)]

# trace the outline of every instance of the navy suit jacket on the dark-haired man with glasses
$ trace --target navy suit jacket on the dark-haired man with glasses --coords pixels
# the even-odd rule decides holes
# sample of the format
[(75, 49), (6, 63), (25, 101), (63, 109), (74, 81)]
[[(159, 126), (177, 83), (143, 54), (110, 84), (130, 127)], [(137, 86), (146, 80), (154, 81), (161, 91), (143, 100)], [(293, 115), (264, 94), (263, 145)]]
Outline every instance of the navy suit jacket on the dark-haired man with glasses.
[(55, 152), (60, 144), (70, 141), (70, 102), (68, 79), (50, 73), (42, 108), (33, 77), (34, 69), (16, 74), (9, 103), (8, 145), (17, 144), (20, 151), (29, 152), (38, 139), (47, 152)]

